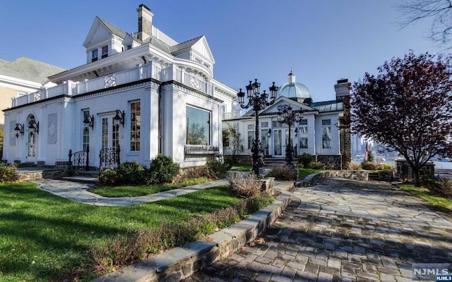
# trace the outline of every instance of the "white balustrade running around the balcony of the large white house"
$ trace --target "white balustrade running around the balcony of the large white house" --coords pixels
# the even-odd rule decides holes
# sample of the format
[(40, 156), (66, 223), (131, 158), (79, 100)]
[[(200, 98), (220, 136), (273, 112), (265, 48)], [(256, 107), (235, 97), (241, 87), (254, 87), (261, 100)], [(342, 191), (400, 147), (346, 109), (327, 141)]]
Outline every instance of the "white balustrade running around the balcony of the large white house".
[(190, 73), (186, 73), (186, 71), (177, 68), (176, 66), (160, 68), (160, 66), (155, 66), (155, 64), (150, 61), (145, 65), (128, 68), (124, 71), (104, 75), (99, 78), (81, 82), (66, 81), (61, 85), (49, 87), (20, 97), (14, 97), (12, 98), (11, 106), (21, 106), (43, 99), (57, 97), (61, 94), (72, 96), (93, 92), (146, 78), (154, 78), (155, 80), (162, 82), (175, 80), (208, 95), (213, 95), (214, 92), (214, 85), (210, 82), (206, 82)]

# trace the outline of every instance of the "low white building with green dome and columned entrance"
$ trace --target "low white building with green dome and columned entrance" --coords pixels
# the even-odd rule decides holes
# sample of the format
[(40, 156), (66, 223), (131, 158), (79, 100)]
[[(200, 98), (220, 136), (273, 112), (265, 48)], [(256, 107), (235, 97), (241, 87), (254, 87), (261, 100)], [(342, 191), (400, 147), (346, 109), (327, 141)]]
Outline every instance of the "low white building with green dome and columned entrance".
[[(350, 123), (347, 123), (347, 118), (344, 117), (350, 117), (350, 106), (347, 106), (350, 85), (346, 79), (338, 80), (334, 85), (334, 100), (313, 102), (308, 87), (296, 82), (295, 74), (290, 72), (288, 81), (278, 89), (275, 103), (259, 112), (259, 137), (266, 157), (285, 157), (289, 127), (278, 121), (278, 107), (288, 105), (292, 106), (293, 111), (303, 113), (302, 120), (290, 128), (295, 159), (299, 154), (308, 153), (315, 155), (318, 161), (328, 166), (347, 168), (351, 159)], [(250, 110), (240, 117), (237, 117), (237, 114), (224, 115), (225, 154), (251, 154), (255, 136), (254, 114), (254, 111)]]

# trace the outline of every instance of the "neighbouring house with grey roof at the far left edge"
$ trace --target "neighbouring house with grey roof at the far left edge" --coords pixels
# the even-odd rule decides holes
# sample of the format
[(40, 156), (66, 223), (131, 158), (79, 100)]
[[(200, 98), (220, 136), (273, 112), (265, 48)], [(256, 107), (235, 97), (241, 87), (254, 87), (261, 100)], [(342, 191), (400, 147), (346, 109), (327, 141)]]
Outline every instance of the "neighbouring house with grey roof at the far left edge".
[[(56, 85), (48, 77), (62, 71), (66, 70), (26, 57), (14, 61), (0, 59), (0, 109), (10, 108), (11, 98)], [(0, 125), (4, 125), (3, 114)]]

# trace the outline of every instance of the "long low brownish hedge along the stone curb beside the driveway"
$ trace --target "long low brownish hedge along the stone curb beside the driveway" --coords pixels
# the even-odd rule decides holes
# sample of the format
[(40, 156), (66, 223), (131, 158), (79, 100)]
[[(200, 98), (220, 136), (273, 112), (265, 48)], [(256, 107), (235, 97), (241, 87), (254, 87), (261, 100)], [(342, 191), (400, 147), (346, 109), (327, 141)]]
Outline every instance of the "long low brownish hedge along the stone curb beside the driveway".
[(171, 247), (179, 247), (206, 237), (220, 228), (227, 228), (267, 207), (273, 200), (265, 192), (257, 197), (239, 200), (233, 207), (192, 217), (180, 223), (160, 222), (155, 228), (127, 231), (126, 234), (95, 242), (90, 247), (90, 253), (98, 271), (112, 271), (117, 266), (143, 259), (146, 253), (155, 254)]

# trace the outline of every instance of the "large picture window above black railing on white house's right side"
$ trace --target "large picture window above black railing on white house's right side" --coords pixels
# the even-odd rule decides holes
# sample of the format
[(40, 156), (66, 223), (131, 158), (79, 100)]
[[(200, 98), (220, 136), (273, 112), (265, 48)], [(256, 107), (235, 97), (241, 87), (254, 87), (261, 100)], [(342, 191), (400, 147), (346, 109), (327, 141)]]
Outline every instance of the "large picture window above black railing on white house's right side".
[(186, 144), (210, 145), (210, 112), (186, 107)]

